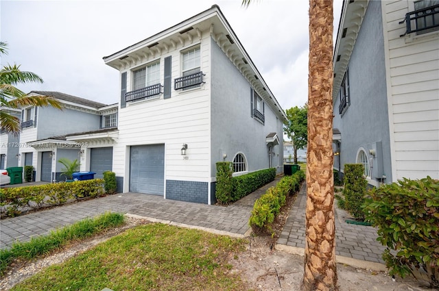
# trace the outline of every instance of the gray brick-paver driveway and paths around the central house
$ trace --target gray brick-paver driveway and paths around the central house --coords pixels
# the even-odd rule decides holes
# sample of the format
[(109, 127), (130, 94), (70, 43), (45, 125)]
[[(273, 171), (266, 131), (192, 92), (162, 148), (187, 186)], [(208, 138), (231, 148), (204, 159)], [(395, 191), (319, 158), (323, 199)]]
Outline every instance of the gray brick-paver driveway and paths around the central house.
[[(247, 197), (227, 207), (166, 200), (163, 197), (123, 193), (79, 203), (71, 203), (49, 210), (34, 212), (0, 220), (0, 248), (8, 249), (15, 241), (25, 242), (33, 236), (49, 233), (53, 229), (71, 225), (84, 218), (104, 212), (134, 214), (152, 221), (204, 229), (234, 237), (250, 234), (248, 219), (254, 201), (275, 186), (278, 179), (263, 186)], [(306, 187), (302, 186), (298, 198), (289, 213), (276, 249), (303, 255), (305, 249)], [(385, 270), (381, 253), (383, 246), (377, 242), (373, 227), (348, 225), (344, 214), (336, 210), (337, 261), (360, 268)]]

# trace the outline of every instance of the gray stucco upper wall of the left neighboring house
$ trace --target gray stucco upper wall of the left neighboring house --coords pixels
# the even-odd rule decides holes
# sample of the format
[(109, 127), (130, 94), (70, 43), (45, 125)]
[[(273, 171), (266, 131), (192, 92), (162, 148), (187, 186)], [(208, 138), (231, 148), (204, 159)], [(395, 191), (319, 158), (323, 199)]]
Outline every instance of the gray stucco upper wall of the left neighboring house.
[(99, 129), (99, 118), (99, 115), (71, 109), (38, 107), (37, 140)]

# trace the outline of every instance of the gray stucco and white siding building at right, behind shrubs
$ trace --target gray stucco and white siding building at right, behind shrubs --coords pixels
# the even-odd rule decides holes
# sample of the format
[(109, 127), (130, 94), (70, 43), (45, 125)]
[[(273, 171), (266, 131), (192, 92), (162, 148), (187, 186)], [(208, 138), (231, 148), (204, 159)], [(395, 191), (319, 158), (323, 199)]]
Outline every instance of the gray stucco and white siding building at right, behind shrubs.
[(372, 186), (439, 179), (439, 1), (344, 1), (333, 59), (334, 166)]

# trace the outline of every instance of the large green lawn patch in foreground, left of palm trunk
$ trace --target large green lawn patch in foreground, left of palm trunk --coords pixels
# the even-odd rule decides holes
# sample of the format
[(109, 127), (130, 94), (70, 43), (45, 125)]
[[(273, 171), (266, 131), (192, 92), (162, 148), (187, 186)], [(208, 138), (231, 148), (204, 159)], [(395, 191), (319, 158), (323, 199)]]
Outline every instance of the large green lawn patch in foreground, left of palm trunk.
[(142, 225), (12, 290), (248, 290), (228, 263), (245, 244), (195, 229)]

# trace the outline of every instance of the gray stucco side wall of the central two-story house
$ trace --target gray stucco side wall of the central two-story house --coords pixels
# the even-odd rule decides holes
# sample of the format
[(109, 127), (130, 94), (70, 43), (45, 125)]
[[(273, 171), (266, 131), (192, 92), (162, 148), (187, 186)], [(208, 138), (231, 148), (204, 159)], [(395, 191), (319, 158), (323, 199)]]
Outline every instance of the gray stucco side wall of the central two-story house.
[[(215, 163), (232, 162), (237, 153), (247, 159), (248, 171), (268, 168), (268, 147), (265, 137), (277, 132), (282, 144), (282, 124), (265, 104), (265, 125), (250, 114), (250, 84), (230, 62), (215, 41), (211, 40), (211, 171), (216, 175)], [(280, 125), (279, 125), (280, 123)], [(279, 131), (280, 128), (280, 131)], [(282, 155), (281, 146), (276, 154)], [(279, 156), (273, 159), (278, 165)]]

